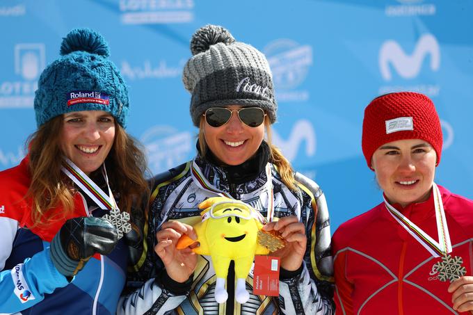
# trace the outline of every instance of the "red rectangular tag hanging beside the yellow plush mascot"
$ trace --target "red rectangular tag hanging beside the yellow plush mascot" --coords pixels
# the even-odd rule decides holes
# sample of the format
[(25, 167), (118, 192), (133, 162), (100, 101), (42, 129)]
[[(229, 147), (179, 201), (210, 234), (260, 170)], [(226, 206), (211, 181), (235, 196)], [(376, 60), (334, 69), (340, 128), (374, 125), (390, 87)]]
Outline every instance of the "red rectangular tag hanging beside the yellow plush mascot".
[(253, 294), (279, 296), (279, 257), (255, 256)]

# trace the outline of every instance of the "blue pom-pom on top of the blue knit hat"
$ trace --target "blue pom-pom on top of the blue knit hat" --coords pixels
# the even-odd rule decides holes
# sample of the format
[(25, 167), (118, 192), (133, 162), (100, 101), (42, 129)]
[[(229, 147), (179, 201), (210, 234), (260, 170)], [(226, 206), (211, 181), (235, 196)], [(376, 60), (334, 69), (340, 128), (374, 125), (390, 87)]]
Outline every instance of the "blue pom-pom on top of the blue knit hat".
[(61, 55), (67, 55), (74, 51), (87, 51), (108, 57), (110, 55), (109, 45), (96, 31), (91, 29), (73, 29), (61, 44)]

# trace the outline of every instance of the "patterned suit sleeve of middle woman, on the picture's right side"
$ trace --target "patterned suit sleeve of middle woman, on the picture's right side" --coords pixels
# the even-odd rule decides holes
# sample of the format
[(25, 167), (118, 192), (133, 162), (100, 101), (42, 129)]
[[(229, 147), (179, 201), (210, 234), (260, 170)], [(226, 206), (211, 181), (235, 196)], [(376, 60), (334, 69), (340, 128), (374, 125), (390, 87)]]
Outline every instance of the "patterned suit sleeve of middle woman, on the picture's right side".
[[(282, 314), (333, 314), (333, 268), (330, 253), (330, 220), (325, 195), (311, 179), (296, 173), (307, 211), (307, 246), (299, 275), (280, 280), (279, 306)], [(304, 216), (303, 216), (304, 217)]]

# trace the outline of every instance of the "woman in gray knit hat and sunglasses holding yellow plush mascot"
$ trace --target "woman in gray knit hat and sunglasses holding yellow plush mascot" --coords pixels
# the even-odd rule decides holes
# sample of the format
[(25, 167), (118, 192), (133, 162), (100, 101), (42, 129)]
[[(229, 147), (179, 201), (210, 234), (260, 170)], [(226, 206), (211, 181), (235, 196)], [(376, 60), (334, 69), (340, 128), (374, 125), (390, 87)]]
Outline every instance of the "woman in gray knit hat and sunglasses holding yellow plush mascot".
[[(123, 298), (118, 314), (173, 309), (179, 314), (331, 314), (326, 200), (319, 186), (294, 172), (271, 144), (277, 105), (265, 56), (213, 25), (193, 35), (191, 51), (183, 81), (199, 128), (198, 154), (154, 177), (147, 242), (131, 276), (152, 279)], [(191, 248), (196, 244), (176, 248), (183, 234), (198, 237), (193, 225), (205, 220), (198, 205), (216, 196), (250, 204), (268, 222), (264, 231), (284, 240), (284, 248), (272, 254), (280, 259), (275, 297), (252, 293), (252, 278), (257, 277), (252, 270), (248, 278), (241, 277), (228, 261), (216, 271), (209, 256), (195, 255)], [(233, 222), (239, 220), (248, 218)]]

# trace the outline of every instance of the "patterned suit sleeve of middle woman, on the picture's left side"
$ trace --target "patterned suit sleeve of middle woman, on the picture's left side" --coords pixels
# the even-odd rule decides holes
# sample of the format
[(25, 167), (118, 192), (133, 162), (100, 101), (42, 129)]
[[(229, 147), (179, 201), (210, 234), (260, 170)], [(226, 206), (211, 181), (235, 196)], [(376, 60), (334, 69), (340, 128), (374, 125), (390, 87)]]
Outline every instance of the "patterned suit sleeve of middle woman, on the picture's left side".
[[(163, 195), (160, 188), (170, 179), (176, 179), (188, 170), (189, 163), (179, 165), (154, 177), (150, 180), (152, 195), (150, 200), (143, 202), (142, 209), (147, 209), (147, 204), (163, 204)], [(161, 207), (153, 209), (160, 213)], [(189, 295), (192, 276), (184, 283), (170, 279), (164, 266), (154, 254), (157, 224), (150, 224), (154, 218), (148, 218), (147, 211), (134, 210), (131, 214), (132, 223), (136, 226), (134, 233), (129, 233), (127, 243), (131, 252), (131, 268), (125, 294), (118, 301), (117, 315), (125, 314), (166, 314), (176, 307)], [(156, 220), (156, 219), (155, 219)]]

